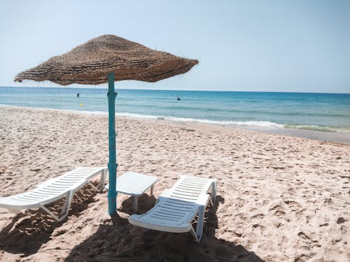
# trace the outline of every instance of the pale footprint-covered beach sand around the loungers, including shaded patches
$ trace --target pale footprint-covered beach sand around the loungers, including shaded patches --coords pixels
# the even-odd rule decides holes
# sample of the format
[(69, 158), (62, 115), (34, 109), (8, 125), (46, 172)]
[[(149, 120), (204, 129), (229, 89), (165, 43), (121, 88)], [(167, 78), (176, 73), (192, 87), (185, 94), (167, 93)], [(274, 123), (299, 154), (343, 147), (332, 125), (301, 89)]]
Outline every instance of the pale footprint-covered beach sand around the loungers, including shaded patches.
[[(106, 116), (1, 107), (0, 119), (0, 196), (108, 162)], [(126, 195), (112, 221), (106, 191), (85, 187), (62, 223), (0, 209), (1, 261), (349, 261), (350, 145), (125, 118), (117, 133), (118, 174), (157, 176), (155, 197), (179, 174), (218, 179), (202, 242), (128, 224)], [(139, 212), (155, 197), (142, 196)]]

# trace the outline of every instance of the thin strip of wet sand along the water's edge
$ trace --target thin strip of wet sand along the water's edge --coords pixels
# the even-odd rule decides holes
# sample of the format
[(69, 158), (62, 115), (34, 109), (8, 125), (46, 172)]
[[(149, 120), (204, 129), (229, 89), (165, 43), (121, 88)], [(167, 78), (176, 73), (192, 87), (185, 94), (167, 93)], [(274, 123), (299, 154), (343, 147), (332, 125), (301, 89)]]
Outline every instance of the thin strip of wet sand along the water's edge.
[[(82, 114), (82, 115), (101, 115), (108, 116), (108, 112), (94, 112), (94, 111), (79, 111), (79, 110), (66, 110), (66, 109), (56, 109), (56, 108), (26, 108), (15, 105), (0, 105), (0, 108), (19, 108), (19, 109), (33, 109), (33, 110), (57, 110), (59, 112), (69, 112), (73, 114)], [(291, 128), (279, 128), (279, 129), (264, 129), (253, 126), (229, 126), (223, 124), (209, 124), (195, 121), (176, 121), (172, 119), (149, 119), (149, 118), (141, 118), (141, 117), (127, 117), (120, 116), (118, 112), (116, 113), (116, 117), (120, 117), (122, 119), (139, 119), (145, 121), (155, 121), (155, 122), (169, 122), (169, 123), (177, 123), (181, 125), (187, 126), (221, 126), (225, 129), (243, 129), (245, 131), (254, 131), (258, 133), (269, 133), (281, 136), (290, 136), (295, 138), (307, 138), (310, 140), (319, 140), (325, 142), (334, 142), (334, 143), (344, 143), (350, 144), (350, 133), (338, 133), (338, 132), (328, 132), (328, 131), (315, 131), (315, 130), (305, 130), (305, 129), (291, 129)]]

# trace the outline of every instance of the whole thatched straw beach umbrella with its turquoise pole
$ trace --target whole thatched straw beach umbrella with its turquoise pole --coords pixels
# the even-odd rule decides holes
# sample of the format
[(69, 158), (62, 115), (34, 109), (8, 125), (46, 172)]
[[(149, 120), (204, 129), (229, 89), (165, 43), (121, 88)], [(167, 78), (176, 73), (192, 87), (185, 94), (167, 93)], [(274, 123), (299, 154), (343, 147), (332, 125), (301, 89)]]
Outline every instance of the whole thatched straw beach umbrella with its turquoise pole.
[(59, 85), (109, 83), (109, 214), (116, 213), (116, 124), (114, 82), (156, 82), (186, 73), (198, 61), (146, 48), (113, 35), (99, 36), (19, 73), (15, 81), (50, 80)]

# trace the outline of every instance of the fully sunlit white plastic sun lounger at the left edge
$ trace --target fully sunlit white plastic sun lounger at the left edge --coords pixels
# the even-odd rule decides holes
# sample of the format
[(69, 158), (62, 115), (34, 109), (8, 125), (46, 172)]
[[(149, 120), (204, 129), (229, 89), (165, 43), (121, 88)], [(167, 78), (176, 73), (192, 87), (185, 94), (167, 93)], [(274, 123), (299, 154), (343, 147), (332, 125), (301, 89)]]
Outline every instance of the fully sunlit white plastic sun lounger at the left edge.
[[(38, 184), (38, 186), (31, 191), (14, 196), (0, 197), (0, 208), (6, 208), (15, 213), (29, 208), (42, 208), (56, 221), (62, 221), (68, 216), (75, 191), (84, 187), (85, 184), (90, 184), (90, 186), (97, 191), (101, 191), (104, 188), (106, 170), (107, 168), (78, 167), (64, 175)], [(97, 188), (89, 180), (99, 173), (101, 173), (101, 180)], [(57, 201), (64, 196), (66, 199), (59, 217), (48, 210), (48, 208), (45, 208), (44, 205)]]

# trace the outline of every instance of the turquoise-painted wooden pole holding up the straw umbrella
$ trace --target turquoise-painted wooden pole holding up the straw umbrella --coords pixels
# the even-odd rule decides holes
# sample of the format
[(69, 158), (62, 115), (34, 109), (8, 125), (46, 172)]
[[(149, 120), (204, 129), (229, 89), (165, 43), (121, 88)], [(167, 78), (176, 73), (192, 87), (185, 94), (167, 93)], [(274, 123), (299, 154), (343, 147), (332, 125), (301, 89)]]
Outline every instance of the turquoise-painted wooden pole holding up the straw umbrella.
[(109, 73), (109, 214), (117, 211), (116, 96), (114, 73)]

